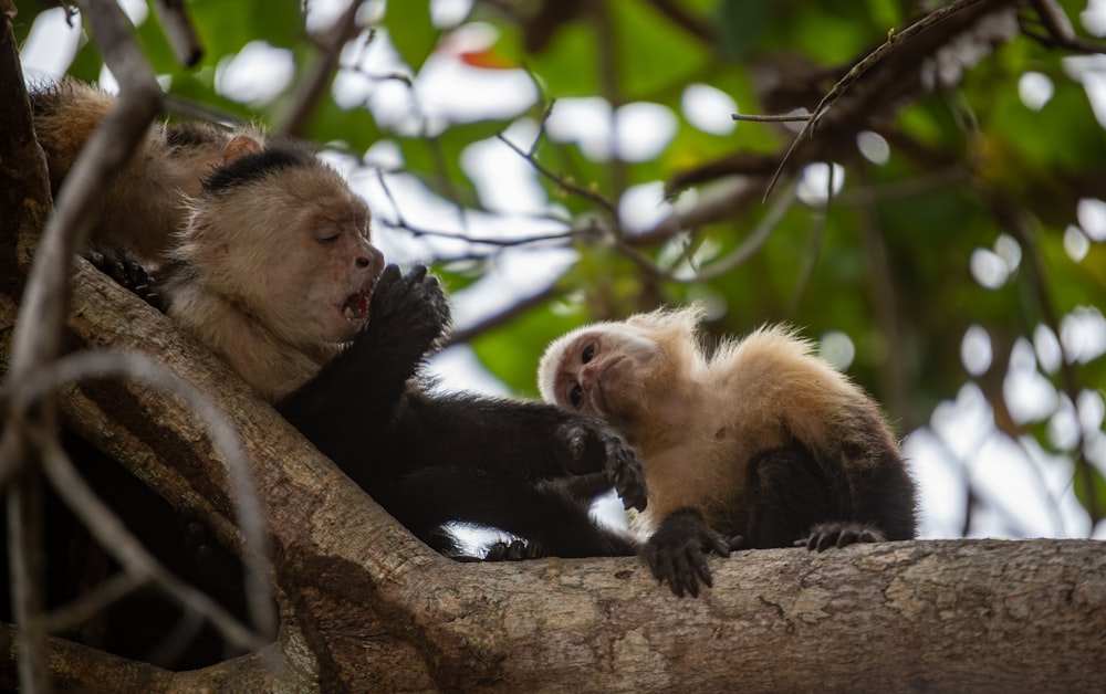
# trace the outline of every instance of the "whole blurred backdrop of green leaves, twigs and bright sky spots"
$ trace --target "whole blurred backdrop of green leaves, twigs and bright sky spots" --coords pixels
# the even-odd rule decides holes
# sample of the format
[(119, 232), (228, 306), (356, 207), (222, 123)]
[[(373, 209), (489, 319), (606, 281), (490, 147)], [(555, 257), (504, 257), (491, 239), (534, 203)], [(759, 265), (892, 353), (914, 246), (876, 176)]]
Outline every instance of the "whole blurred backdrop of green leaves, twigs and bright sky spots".
[[(800, 326), (884, 404), (924, 536), (1106, 536), (1106, 2), (902, 33), (941, 4), (196, 0), (185, 69), (121, 2), (175, 111), (316, 144), (389, 260), (434, 265), (441, 388), (536, 397), (557, 335), (700, 302), (713, 338)], [(80, 14), (18, 7), (29, 82), (116, 88)], [(889, 40), (790, 157), (802, 122), (731, 117), (808, 114)]]

